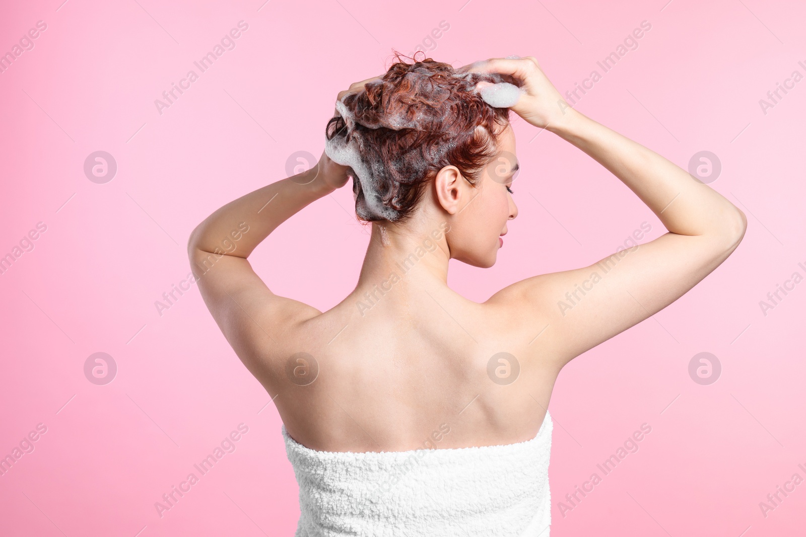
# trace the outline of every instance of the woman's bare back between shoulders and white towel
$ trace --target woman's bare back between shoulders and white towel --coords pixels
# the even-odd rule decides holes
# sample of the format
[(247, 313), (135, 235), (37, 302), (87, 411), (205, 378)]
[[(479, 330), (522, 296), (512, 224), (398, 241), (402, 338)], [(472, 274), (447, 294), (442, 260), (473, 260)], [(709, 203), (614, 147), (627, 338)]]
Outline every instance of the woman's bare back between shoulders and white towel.
[(334, 452), (534, 438), (555, 366), (532, 359), (539, 342), (518, 341), (499, 305), (434, 287), (397, 283), (360, 312), (353, 293), (285, 336), (267, 389), (290, 436)]

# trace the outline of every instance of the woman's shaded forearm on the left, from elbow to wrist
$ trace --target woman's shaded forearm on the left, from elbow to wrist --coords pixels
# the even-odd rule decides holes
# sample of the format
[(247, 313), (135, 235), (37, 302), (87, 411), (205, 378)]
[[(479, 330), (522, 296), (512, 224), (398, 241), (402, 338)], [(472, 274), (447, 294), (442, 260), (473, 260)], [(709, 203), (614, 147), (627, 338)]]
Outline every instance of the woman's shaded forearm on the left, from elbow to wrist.
[(192, 250), (247, 258), (278, 225), (333, 192), (317, 177), (317, 169), (258, 188), (216, 210), (190, 234), (191, 258)]

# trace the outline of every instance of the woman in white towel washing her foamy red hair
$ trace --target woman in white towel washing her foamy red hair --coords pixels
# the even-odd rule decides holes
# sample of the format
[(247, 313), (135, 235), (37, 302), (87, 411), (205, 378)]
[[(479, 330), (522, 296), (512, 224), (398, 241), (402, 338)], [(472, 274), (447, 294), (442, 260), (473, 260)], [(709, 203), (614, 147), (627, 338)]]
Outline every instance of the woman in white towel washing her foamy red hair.
[[(548, 535), (546, 409), (559, 371), (704, 279), (741, 242), (746, 218), (569, 107), (532, 56), (459, 70), (397, 60), (339, 93), (316, 167), (193, 231), (193, 272), (283, 420), (300, 485), (296, 535)], [(482, 304), (451, 291), (449, 259), (492, 266), (517, 217), (505, 105), (613, 172), (668, 233)], [(372, 221), (355, 290), (326, 312), (275, 295), (249, 254), (349, 178), (357, 215)], [(229, 237), (237, 246), (222, 252)]]

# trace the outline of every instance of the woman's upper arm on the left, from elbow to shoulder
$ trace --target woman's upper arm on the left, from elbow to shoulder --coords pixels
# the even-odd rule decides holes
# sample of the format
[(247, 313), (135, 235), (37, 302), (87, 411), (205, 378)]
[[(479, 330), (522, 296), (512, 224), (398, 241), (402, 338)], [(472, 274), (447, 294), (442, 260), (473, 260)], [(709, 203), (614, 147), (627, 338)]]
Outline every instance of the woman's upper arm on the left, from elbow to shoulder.
[(218, 328), (244, 366), (263, 381), (268, 362), (285, 352), (289, 330), (321, 312), (272, 293), (246, 258), (213, 254), (193, 245), (188, 254)]

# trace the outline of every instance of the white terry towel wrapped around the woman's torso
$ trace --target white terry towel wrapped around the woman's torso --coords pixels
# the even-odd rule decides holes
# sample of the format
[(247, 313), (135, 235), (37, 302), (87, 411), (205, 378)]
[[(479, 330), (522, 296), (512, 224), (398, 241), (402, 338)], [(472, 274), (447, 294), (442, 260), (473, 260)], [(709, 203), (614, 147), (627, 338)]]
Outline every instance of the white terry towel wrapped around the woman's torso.
[(280, 428), (300, 489), (295, 537), (548, 537), (553, 423), (532, 440), (405, 452), (323, 452)]

